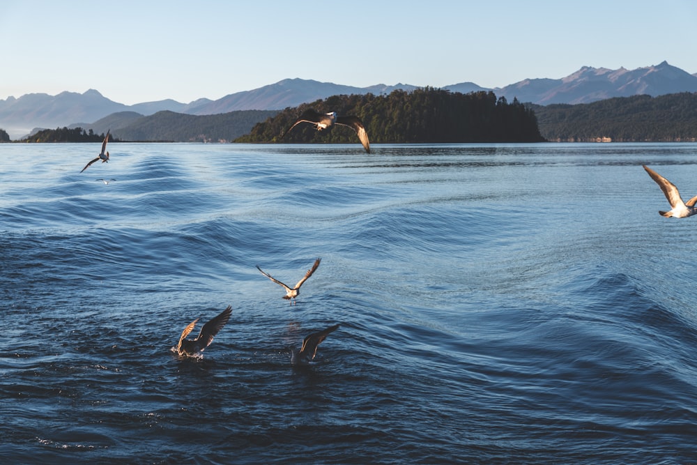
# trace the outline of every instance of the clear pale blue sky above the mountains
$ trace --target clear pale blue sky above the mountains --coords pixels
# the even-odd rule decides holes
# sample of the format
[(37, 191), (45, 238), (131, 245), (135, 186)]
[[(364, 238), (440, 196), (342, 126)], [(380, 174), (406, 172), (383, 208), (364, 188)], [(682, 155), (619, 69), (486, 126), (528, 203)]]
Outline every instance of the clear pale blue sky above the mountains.
[(188, 103), (295, 77), (493, 89), (661, 61), (694, 74), (695, 24), (694, 0), (3, 0), (0, 100)]

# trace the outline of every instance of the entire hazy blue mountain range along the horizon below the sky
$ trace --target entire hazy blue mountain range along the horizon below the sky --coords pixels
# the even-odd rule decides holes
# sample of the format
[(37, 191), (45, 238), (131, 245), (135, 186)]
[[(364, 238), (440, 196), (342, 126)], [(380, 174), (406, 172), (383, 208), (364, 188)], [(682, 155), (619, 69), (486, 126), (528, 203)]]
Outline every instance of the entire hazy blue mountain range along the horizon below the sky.
[[(20, 138), (32, 128), (58, 128), (77, 126), (94, 128), (104, 132), (107, 128), (94, 127), (93, 123), (105, 117), (130, 112), (128, 120), (168, 111), (190, 115), (213, 115), (237, 110), (279, 110), (296, 107), (305, 102), (327, 98), (337, 94), (391, 93), (396, 89), (413, 91), (418, 86), (395, 84), (388, 86), (376, 84), (368, 87), (355, 87), (331, 82), (318, 82), (311, 79), (283, 79), (275, 84), (259, 87), (251, 91), (231, 93), (218, 100), (200, 98), (189, 103), (176, 100), (160, 100), (135, 105), (109, 100), (94, 89), (84, 93), (62, 92), (56, 96), (45, 93), (29, 93), (20, 98), (9, 97), (0, 100), (0, 128), (6, 130), (13, 139)], [(634, 95), (661, 96), (668, 93), (697, 92), (697, 75), (691, 75), (666, 61), (656, 66), (627, 70), (620, 68), (581, 69), (562, 79), (524, 79), (502, 88), (488, 89), (473, 82), (461, 82), (443, 87), (452, 92), (470, 93), (493, 91), (498, 97), (507, 100), (517, 98), (521, 102), (536, 105), (554, 103), (589, 103), (613, 97)], [(109, 121), (110, 123), (110, 121)], [(118, 128), (111, 126), (114, 135)]]

